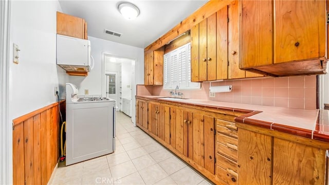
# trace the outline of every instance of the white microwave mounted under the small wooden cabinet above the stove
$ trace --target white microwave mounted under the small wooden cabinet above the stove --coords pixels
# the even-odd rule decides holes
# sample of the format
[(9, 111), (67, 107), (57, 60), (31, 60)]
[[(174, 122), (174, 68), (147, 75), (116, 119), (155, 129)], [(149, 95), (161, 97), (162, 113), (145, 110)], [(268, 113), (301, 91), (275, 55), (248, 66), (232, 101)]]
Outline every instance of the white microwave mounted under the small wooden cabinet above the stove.
[(56, 62), (66, 71), (89, 72), (90, 41), (57, 34)]

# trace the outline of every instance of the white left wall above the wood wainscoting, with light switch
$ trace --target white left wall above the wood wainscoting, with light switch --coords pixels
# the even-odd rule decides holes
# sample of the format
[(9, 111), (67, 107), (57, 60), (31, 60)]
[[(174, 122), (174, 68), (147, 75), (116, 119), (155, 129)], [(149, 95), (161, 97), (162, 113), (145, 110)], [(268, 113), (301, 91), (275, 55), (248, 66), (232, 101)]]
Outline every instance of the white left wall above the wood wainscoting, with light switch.
[(56, 11), (58, 1), (11, 2), (10, 46), (21, 51), (19, 64), (9, 62), (9, 120), (56, 102), (54, 87), (65, 87), (67, 75), (56, 65)]

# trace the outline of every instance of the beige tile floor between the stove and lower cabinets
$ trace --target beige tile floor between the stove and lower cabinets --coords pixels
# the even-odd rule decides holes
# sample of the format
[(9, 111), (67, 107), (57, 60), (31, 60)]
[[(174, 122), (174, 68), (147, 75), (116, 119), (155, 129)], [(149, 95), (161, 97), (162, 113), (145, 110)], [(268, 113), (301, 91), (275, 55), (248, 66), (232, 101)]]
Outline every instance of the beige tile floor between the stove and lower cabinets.
[(50, 184), (213, 184), (117, 112), (114, 153), (58, 168)]

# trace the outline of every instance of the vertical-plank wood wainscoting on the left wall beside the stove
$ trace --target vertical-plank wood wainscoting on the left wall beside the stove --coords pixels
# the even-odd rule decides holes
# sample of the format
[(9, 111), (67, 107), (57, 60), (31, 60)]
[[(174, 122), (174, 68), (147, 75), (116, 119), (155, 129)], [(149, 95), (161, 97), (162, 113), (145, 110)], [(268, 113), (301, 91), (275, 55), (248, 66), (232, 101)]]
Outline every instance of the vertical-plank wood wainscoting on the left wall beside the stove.
[(60, 124), (58, 102), (13, 120), (13, 184), (48, 183), (60, 156)]

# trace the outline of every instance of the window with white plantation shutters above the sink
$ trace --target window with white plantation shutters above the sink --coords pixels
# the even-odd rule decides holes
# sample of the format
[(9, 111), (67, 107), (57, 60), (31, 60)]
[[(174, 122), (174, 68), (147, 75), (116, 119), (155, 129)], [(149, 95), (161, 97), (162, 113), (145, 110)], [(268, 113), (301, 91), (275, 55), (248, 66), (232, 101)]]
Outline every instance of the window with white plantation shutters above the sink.
[(163, 89), (199, 89), (191, 82), (191, 43), (163, 55)]

